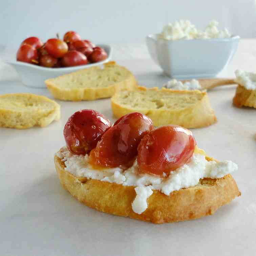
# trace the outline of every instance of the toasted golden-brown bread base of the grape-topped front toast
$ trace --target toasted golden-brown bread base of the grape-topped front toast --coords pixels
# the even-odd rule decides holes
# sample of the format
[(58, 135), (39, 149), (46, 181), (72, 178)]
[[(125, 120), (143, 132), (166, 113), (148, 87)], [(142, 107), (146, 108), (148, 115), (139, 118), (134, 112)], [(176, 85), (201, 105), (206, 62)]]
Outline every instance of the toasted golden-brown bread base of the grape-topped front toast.
[[(213, 160), (206, 157), (208, 161)], [(173, 191), (169, 196), (158, 190), (147, 199), (148, 208), (137, 214), (132, 210), (134, 186), (76, 177), (65, 170), (65, 163), (55, 155), (60, 183), (83, 204), (101, 212), (150, 221), (176, 222), (213, 214), (219, 207), (240, 196), (235, 180), (228, 174), (220, 179), (204, 178), (194, 187)]]

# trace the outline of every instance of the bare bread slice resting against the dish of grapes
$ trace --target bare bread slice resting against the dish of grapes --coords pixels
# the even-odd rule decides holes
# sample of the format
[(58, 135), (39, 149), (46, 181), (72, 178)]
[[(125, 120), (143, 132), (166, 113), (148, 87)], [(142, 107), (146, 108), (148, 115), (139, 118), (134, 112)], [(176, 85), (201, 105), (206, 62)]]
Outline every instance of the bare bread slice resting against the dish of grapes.
[(113, 61), (104, 68), (90, 67), (47, 79), (45, 84), (54, 98), (63, 101), (110, 98), (117, 91), (137, 87), (133, 74)]

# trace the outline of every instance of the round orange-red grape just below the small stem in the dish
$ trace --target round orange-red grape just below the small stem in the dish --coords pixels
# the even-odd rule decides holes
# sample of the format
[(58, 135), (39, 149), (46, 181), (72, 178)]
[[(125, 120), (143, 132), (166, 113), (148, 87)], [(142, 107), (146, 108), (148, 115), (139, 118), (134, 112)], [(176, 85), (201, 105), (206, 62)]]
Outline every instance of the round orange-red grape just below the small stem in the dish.
[(45, 49), (49, 55), (55, 58), (61, 58), (67, 53), (68, 46), (64, 41), (58, 38), (51, 38), (45, 43)]

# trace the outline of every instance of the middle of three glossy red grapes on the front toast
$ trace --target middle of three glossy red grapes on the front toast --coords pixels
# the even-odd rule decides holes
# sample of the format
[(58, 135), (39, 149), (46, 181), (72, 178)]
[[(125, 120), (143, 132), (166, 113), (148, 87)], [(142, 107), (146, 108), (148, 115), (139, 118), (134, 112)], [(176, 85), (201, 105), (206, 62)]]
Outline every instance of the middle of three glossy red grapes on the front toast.
[(152, 121), (141, 113), (130, 113), (109, 128), (91, 151), (90, 163), (102, 167), (130, 167), (143, 136), (153, 130)]

